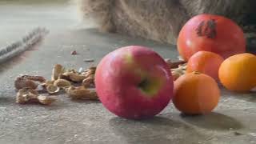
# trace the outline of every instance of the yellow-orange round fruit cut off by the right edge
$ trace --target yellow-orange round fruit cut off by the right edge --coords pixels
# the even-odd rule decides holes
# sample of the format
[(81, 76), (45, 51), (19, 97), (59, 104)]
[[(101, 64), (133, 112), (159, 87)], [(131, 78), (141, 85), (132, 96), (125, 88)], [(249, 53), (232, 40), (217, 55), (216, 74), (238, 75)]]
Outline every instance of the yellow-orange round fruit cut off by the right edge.
[(231, 56), (222, 62), (218, 75), (226, 89), (249, 91), (256, 86), (256, 56), (249, 53)]

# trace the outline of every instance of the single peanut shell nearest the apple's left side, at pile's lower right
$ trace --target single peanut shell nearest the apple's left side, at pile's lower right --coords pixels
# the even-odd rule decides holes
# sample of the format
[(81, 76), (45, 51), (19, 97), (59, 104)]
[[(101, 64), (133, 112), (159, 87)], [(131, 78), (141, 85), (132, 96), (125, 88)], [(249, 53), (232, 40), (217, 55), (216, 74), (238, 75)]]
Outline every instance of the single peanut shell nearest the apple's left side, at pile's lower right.
[(70, 86), (66, 89), (66, 93), (72, 99), (90, 99), (97, 100), (98, 96), (94, 90), (88, 90), (84, 86), (74, 87)]

